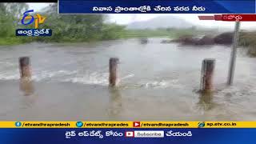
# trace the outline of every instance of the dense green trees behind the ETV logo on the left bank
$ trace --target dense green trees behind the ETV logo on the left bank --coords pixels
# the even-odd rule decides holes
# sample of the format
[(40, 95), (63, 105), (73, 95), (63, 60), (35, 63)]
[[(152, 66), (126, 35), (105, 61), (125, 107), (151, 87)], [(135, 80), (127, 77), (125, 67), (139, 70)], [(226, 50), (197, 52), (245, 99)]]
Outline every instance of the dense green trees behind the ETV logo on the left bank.
[(51, 37), (16, 37), (18, 28), (34, 26), (18, 25), (22, 13), (28, 10), (25, 3), (0, 3), (0, 45), (18, 44), (23, 42), (89, 42), (121, 38), (125, 26), (104, 23), (106, 16), (102, 14), (69, 15), (57, 14), (57, 5), (47, 7), (43, 12), (46, 21), (40, 28), (52, 29)]

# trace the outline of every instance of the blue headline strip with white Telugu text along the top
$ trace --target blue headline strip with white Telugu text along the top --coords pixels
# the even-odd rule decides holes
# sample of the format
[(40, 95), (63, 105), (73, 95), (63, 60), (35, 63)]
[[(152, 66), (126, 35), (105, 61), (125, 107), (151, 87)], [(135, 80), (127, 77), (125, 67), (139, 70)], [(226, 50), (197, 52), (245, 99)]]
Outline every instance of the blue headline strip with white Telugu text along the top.
[(255, 14), (255, 0), (59, 0), (59, 14)]

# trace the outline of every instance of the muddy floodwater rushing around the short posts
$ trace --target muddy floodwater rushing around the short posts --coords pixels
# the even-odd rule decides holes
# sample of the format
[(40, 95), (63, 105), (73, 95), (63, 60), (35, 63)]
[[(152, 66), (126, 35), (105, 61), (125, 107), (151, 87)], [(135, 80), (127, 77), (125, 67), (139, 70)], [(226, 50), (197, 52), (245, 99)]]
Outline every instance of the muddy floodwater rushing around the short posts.
[[(0, 47), (1, 120), (247, 120), (256, 118), (256, 58), (238, 50), (226, 86), (227, 46), (146, 45), (137, 39)], [(30, 56), (33, 94), (20, 88), (18, 58)], [(108, 87), (109, 58), (120, 85)], [(215, 58), (214, 94), (196, 93), (203, 58)]]

